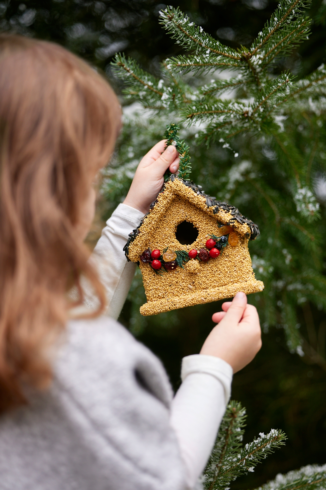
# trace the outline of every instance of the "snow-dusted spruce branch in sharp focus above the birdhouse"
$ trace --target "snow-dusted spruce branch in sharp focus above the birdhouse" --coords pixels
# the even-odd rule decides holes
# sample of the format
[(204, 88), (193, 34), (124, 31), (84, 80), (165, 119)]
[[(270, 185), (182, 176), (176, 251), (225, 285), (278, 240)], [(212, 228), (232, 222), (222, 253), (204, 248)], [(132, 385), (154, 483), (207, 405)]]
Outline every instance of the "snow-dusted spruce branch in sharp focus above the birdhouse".
[[(268, 32), (271, 36), (274, 36), (279, 26), (283, 24), (286, 26), (290, 21), (292, 22), (291, 29), (288, 29), (287, 36), (278, 37), (278, 43), (273, 46), (273, 49), (270, 49), (263, 56), (261, 53), (258, 53), (260, 58), (265, 60), (265, 64), (273, 56), (275, 57), (279, 54), (282, 49), (285, 49), (285, 47), (288, 48), (292, 41), (298, 41), (299, 34), (297, 30), (300, 22), (299, 20), (293, 20), (293, 18), (294, 15), (300, 14), (300, 8), (303, 5), (303, 0), (284, 0), (279, 5), (275, 13), (274, 24), (271, 21), (267, 26), (269, 28)], [(289, 6), (291, 6), (293, 13), (290, 13)], [(256, 56), (255, 59), (252, 56), (253, 52), (245, 48), (242, 49), (241, 56), (238, 55), (239, 53), (235, 56), (235, 51), (232, 49), (220, 49), (222, 47), (220, 43), (208, 36), (202, 28), (190, 23), (187, 16), (184, 16), (179, 9), (167, 7), (164, 12), (161, 12), (161, 18), (161, 22), (169, 30), (172, 37), (177, 38), (177, 42), (185, 45), (187, 48), (193, 49), (196, 47), (197, 50), (196, 54), (192, 56), (192, 59), (189, 57), (179, 57), (164, 62), (163, 72), (170, 78), (172, 86), (166, 85), (163, 79), (158, 80), (144, 72), (135, 61), (131, 59), (126, 60), (124, 56), (116, 56), (115, 66), (119, 69), (118, 75), (131, 85), (131, 88), (126, 91), (129, 97), (139, 98), (145, 107), (156, 110), (168, 109), (175, 111), (179, 109), (184, 121), (188, 123), (205, 120), (208, 125), (206, 130), (199, 134), (198, 142), (205, 140), (207, 144), (210, 144), (211, 141), (216, 139), (217, 134), (222, 139), (225, 139), (231, 138), (240, 132), (260, 130), (262, 126), (266, 126), (266, 124), (268, 126), (268, 118), (271, 117), (272, 113), (281, 104), (286, 102), (292, 94), (294, 96), (296, 91), (292, 88), (292, 77), (288, 74), (279, 75), (277, 79), (269, 81), (265, 80), (265, 75), (261, 78), (259, 75), (259, 72), (261, 73), (261, 67), (257, 69), (259, 63), (261, 63), (261, 59), (260, 61), (258, 60), (258, 54), (258, 58)], [(275, 23), (278, 27), (276, 27)], [(274, 30), (271, 30), (272, 24)], [(302, 26), (302, 23), (300, 25)], [(267, 27), (266, 29), (268, 30)], [(283, 26), (283, 34), (285, 32), (284, 29), (285, 27)], [(266, 34), (267, 37), (268, 35)], [(261, 41), (262, 44), (267, 42), (267, 37)], [(259, 47), (260, 45), (257, 46)], [(198, 46), (200, 46), (200, 49)], [(215, 49), (216, 46), (218, 49)], [(245, 61), (245, 64), (247, 64), (246, 74), (239, 75), (239, 77), (231, 80), (217, 80), (212, 82), (209, 86), (204, 86), (199, 89), (197, 97), (194, 93), (190, 94), (189, 86), (183, 83), (182, 79), (173, 73), (174, 69), (177, 66), (180, 68), (181, 65), (184, 65), (184, 68), (189, 70), (197, 65), (197, 73), (199, 71), (205, 71), (208, 68), (211, 69), (211, 58), (216, 58), (216, 55), (219, 61), (222, 61), (223, 58), (224, 65), (226, 63), (230, 64), (230, 60), (231, 62), (241, 63), (242, 71), (244, 71), (245, 65), (243, 62)], [(188, 65), (185, 66), (185, 63), (188, 63)], [(244, 83), (254, 92), (257, 92), (258, 89), (258, 97), (254, 101), (221, 101), (213, 97)], [(290, 89), (292, 89), (292, 92)], [(186, 96), (186, 92), (189, 92), (189, 96)]]

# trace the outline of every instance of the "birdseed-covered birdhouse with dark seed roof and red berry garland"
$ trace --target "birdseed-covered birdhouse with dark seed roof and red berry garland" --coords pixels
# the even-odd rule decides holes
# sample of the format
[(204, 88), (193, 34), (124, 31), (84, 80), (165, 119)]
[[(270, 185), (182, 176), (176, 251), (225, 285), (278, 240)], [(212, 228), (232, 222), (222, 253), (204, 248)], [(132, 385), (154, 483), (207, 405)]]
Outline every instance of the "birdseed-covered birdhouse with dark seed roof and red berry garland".
[(171, 175), (124, 252), (139, 264), (147, 302), (142, 315), (263, 291), (248, 241), (259, 230), (234, 206)]

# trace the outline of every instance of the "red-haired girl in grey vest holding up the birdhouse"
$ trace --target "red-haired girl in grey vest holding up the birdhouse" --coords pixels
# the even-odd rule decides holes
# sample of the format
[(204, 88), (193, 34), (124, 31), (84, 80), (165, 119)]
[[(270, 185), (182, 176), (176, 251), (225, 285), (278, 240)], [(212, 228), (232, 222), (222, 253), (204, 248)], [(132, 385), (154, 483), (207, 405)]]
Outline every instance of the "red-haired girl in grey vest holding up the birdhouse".
[[(135, 267), (122, 247), (178, 168), (163, 141), (144, 156), (89, 260), (93, 181), (120, 124), (115, 94), (82, 60), (0, 35), (1, 490), (193, 489), (232, 374), (261, 345), (238, 293), (184, 358), (173, 398), (160, 361), (116, 322)], [(82, 276), (97, 302), (71, 319)]]

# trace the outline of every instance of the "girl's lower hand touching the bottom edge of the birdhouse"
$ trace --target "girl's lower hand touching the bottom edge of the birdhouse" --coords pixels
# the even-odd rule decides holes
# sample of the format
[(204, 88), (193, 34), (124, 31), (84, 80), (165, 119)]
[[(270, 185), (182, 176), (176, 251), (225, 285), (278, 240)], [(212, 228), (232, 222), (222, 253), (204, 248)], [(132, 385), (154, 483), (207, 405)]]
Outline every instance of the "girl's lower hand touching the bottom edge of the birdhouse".
[(259, 317), (242, 292), (232, 302), (223, 303), (222, 310), (212, 316), (218, 325), (210, 332), (200, 354), (223, 359), (234, 373), (247, 366), (261, 347)]

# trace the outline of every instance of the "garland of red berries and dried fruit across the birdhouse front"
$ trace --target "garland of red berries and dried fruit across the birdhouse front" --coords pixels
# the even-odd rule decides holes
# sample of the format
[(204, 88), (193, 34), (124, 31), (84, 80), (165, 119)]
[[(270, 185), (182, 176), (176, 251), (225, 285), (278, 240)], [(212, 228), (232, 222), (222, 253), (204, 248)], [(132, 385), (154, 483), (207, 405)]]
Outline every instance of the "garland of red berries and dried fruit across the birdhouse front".
[(184, 265), (191, 259), (202, 262), (216, 259), (223, 252), (226, 245), (235, 246), (239, 241), (231, 226), (222, 226), (220, 231), (223, 233), (222, 236), (209, 235), (210, 239), (205, 244), (206, 248), (200, 248), (199, 251), (193, 248), (186, 252), (186, 250), (171, 250), (166, 247), (161, 253), (159, 249), (151, 250), (147, 248), (140, 255), (140, 262), (149, 264), (156, 274), (163, 275), (163, 272), (175, 270), (177, 266), (184, 269)]

